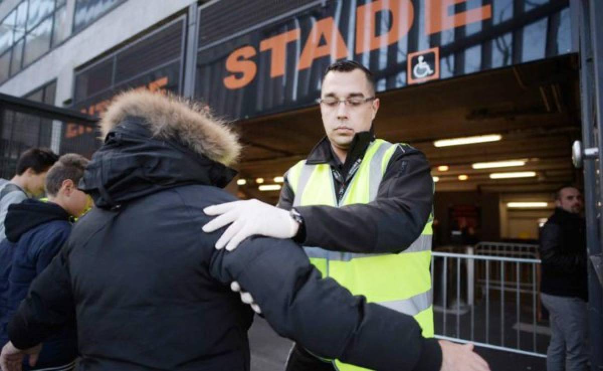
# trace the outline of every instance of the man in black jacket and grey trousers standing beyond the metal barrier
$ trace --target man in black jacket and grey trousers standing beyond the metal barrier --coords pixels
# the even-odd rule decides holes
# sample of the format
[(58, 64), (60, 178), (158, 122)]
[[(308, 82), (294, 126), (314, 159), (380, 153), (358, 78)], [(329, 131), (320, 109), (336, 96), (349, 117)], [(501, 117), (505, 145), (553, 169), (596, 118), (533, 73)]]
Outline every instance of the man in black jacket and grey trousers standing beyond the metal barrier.
[(586, 371), (586, 227), (580, 216), (580, 191), (573, 186), (560, 188), (555, 206), (540, 235), (540, 297), (551, 322), (546, 368)]

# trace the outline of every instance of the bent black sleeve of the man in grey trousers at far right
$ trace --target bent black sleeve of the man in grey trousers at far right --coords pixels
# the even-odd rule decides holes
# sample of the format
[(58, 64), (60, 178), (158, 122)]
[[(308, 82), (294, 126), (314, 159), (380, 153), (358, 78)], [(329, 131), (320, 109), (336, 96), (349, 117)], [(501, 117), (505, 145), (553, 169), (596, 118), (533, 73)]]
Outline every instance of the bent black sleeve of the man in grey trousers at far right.
[(586, 269), (586, 255), (564, 249), (561, 241), (561, 227), (555, 223), (545, 223), (540, 234), (540, 258), (543, 264), (561, 274)]

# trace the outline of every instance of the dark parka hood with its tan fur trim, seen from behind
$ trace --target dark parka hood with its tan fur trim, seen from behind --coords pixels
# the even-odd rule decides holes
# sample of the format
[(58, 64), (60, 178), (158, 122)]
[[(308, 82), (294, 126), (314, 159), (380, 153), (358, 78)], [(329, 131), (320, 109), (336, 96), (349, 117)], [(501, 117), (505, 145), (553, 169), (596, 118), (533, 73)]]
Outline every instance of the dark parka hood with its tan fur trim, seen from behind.
[(173, 95), (135, 90), (119, 95), (101, 121), (104, 144), (80, 182), (99, 208), (180, 185), (223, 188), (241, 150), (224, 122)]

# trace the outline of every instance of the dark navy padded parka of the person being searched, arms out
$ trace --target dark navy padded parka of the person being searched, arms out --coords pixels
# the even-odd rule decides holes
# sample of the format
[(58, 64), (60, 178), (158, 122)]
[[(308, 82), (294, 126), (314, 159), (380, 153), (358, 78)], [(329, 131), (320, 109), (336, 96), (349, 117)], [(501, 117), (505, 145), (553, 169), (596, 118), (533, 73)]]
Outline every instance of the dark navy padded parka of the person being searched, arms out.
[(377, 370), (439, 370), (437, 341), (422, 338), (412, 317), (320, 279), (291, 241), (251, 238), (235, 252), (216, 250), (223, 231), (201, 230), (210, 220), (203, 208), (234, 200), (216, 187), (232, 171), (198, 148), (224, 145), (214, 133), (191, 144), (182, 136), (190, 122), (144, 116), (135, 102), (122, 115), (114, 103), (104, 118), (118, 123), (83, 185), (98, 208), (34, 281), (9, 326), (17, 347), (75, 320), (82, 370), (248, 370), (253, 312), (230, 291), (236, 280), (280, 335), (317, 354)]

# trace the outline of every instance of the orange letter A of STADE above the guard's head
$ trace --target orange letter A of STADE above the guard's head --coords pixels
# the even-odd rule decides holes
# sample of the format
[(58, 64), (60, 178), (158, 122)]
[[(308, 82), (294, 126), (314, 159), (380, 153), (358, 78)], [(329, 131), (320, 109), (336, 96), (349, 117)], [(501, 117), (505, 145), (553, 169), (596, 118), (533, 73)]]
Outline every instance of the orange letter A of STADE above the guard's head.
[[(324, 45), (318, 46), (321, 39), (325, 40)], [(332, 17), (321, 19), (314, 24), (308, 36), (308, 41), (301, 52), (298, 70), (309, 68), (312, 61), (326, 55), (333, 55), (335, 59), (341, 59), (347, 56), (346, 42), (344, 42), (341, 33), (337, 29)]]

